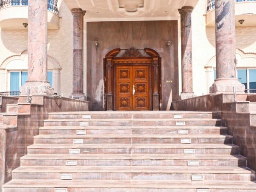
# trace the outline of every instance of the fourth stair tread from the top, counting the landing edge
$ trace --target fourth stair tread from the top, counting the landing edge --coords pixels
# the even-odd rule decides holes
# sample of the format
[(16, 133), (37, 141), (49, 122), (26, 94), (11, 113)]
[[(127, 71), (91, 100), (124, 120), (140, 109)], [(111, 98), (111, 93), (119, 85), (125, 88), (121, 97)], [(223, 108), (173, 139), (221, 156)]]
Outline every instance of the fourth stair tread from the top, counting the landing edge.
[(231, 135), (36, 135), (34, 138), (232, 138)]

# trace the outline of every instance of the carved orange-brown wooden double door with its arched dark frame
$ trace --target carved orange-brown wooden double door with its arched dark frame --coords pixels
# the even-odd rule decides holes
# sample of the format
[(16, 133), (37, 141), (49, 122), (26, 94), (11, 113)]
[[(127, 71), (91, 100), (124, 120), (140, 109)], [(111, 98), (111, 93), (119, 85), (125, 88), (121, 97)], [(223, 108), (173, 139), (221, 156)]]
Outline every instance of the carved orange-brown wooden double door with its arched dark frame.
[(113, 49), (104, 58), (106, 110), (159, 110), (161, 67), (153, 49)]

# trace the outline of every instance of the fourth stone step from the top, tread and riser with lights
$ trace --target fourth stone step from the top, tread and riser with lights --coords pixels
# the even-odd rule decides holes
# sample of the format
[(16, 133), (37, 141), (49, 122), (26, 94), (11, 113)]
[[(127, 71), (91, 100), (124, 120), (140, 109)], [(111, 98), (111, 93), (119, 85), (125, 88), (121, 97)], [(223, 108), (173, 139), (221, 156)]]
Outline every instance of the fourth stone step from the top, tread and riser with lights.
[(37, 135), (34, 143), (232, 143), (230, 135)]

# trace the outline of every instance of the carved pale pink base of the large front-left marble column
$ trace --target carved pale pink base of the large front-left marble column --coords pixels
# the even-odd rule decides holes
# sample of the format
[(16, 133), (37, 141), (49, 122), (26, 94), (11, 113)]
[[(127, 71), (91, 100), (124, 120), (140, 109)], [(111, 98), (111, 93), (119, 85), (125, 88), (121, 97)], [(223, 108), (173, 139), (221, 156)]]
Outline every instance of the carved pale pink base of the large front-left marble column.
[(26, 81), (20, 86), (20, 95), (53, 95), (53, 88), (49, 81)]

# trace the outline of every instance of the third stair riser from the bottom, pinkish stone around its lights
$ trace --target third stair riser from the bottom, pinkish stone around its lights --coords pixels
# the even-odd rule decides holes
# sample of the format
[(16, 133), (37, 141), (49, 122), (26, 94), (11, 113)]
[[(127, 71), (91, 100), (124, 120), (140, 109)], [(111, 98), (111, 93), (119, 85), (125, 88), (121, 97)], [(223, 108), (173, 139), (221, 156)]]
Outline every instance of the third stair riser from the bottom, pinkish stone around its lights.
[[(66, 166), (66, 160), (21, 160), (21, 166)], [(196, 159), (198, 160), (198, 159)], [(200, 166), (246, 166), (246, 160), (199, 160)], [(78, 166), (187, 166), (188, 160), (77, 160)]]

